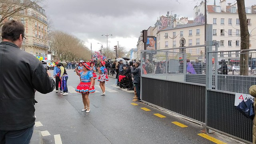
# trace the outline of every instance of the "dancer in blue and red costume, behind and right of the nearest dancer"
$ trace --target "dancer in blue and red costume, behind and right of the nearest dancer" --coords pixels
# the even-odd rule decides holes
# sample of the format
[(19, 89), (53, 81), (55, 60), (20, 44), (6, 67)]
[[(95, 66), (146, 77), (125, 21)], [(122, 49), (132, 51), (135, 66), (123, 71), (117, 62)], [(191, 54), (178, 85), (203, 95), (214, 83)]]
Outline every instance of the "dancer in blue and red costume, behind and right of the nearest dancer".
[(98, 67), (98, 71), (99, 71), (99, 78), (98, 78), (98, 82), (100, 82), (100, 88), (102, 90), (102, 96), (105, 96), (105, 82), (108, 81), (108, 75), (107, 75), (107, 69), (105, 67), (105, 62), (104, 61), (100, 61), (100, 67)]

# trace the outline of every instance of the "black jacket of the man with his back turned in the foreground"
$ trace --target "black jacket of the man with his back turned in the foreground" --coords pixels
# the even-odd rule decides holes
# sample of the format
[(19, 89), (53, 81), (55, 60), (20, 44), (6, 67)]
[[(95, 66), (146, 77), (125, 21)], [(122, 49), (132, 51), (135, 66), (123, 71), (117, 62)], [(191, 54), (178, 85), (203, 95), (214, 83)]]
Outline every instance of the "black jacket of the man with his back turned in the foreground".
[(32, 54), (11, 42), (0, 43), (0, 130), (22, 130), (35, 124), (35, 90), (46, 94), (55, 82)]

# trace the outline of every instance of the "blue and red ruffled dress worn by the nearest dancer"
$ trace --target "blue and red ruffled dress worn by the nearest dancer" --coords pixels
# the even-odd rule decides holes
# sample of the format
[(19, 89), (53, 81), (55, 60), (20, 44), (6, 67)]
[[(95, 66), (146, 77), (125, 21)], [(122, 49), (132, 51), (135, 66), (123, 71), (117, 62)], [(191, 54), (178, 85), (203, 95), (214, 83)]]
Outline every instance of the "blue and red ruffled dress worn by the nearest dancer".
[(92, 72), (88, 71), (85, 74), (83, 73), (83, 71), (80, 72), (82, 82), (80, 82), (76, 87), (76, 92), (82, 94), (95, 92), (94, 86), (92, 86), (92, 89), (90, 90), (91, 78), (93, 77)]

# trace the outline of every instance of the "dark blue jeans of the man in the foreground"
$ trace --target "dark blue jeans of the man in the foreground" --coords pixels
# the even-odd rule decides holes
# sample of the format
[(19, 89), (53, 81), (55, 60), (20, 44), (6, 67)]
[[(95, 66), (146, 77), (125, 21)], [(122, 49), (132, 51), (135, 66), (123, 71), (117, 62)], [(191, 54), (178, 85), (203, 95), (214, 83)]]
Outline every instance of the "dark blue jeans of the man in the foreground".
[(29, 144), (34, 126), (23, 130), (0, 130), (0, 144)]

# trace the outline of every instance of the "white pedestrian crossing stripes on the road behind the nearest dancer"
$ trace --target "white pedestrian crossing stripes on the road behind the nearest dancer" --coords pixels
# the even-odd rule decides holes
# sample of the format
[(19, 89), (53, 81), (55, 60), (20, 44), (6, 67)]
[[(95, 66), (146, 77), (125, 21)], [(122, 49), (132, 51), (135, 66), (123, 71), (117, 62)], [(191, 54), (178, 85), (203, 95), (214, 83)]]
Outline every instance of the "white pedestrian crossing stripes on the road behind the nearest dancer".
[[(95, 93), (100, 93), (101, 92), (101, 88), (99, 85), (95, 85)], [(133, 90), (127, 90), (127, 89), (124, 89), (124, 88), (120, 88), (119, 86), (116, 86), (116, 85), (108, 85), (108, 86), (105, 86), (105, 90), (106, 92), (110, 92), (110, 93), (120, 93), (120, 91), (118, 92), (118, 90), (123, 90), (125, 92), (129, 92), (129, 93), (134, 93)], [(69, 93), (77, 93), (76, 92), (76, 88), (74, 88), (73, 86), (68, 86), (68, 92)]]

